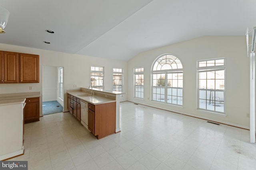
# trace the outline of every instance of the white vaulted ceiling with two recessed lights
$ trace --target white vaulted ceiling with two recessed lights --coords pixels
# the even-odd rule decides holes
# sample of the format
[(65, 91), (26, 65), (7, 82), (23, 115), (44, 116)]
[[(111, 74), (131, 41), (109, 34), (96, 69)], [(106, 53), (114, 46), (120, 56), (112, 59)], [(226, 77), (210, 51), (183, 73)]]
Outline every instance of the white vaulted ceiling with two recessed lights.
[(255, 0), (0, 0), (0, 5), (10, 11), (0, 43), (124, 61), (205, 35), (242, 36), (256, 26)]

